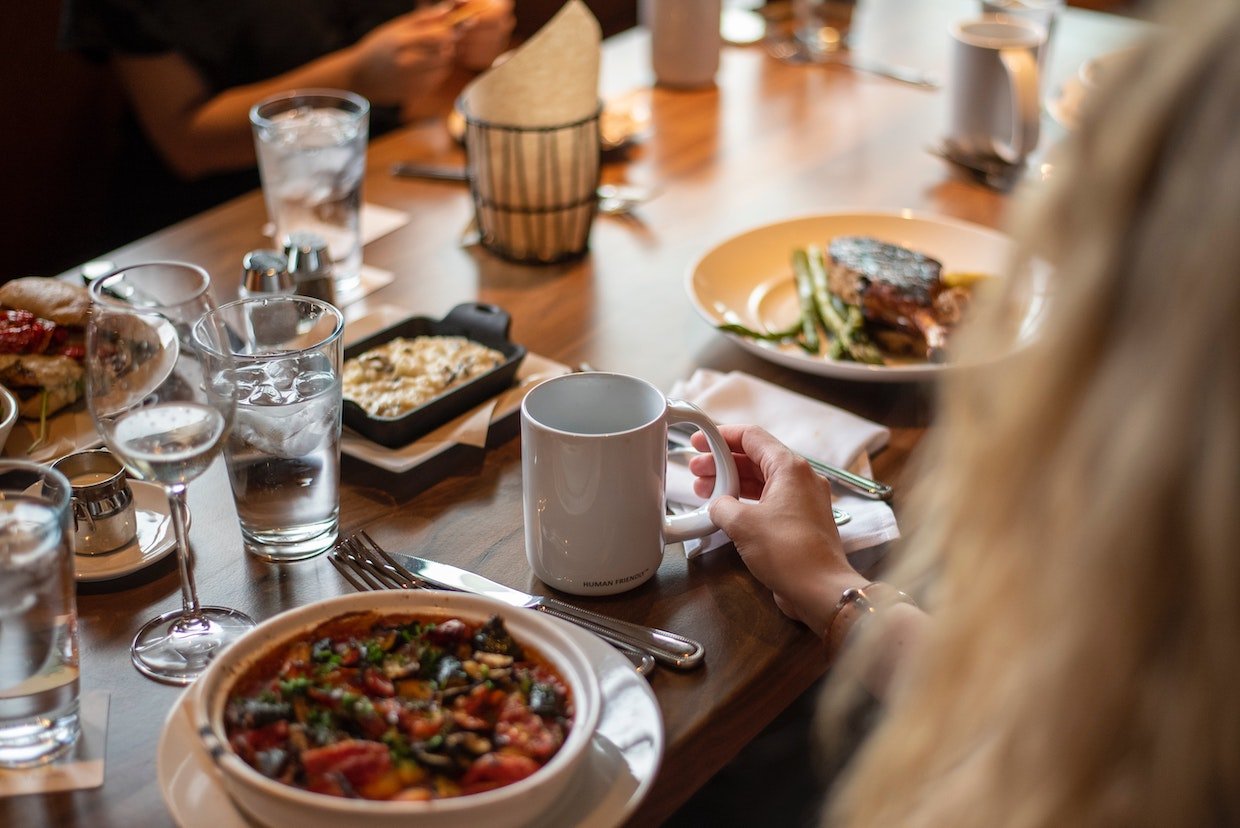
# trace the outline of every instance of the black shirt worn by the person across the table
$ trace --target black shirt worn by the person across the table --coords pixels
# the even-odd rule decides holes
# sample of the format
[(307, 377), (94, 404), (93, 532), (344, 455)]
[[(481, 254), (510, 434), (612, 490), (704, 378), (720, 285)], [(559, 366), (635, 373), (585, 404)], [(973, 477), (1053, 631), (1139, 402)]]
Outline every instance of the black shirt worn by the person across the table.
[[(175, 52), (218, 93), (351, 46), (413, 7), (410, 0), (64, 0), (61, 46), (100, 62)], [(371, 112), (371, 135), (394, 124), (394, 110)], [(181, 181), (131, 113), (120, 148), (113, 190), (123, 207), (104, 217), (112, 245), (258, 186), (255, 170)]]

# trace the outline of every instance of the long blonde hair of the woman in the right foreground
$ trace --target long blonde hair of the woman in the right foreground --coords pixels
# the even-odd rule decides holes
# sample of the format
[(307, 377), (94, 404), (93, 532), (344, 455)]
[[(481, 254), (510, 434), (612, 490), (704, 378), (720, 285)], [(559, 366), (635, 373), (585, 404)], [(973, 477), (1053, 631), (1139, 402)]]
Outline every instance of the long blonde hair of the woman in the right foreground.
[(931, 631), (831, 824), (1240, 824), (1240, 4), (1174, 6), (1018, 213), (1050, 307), (945, 388), (890, 574)]

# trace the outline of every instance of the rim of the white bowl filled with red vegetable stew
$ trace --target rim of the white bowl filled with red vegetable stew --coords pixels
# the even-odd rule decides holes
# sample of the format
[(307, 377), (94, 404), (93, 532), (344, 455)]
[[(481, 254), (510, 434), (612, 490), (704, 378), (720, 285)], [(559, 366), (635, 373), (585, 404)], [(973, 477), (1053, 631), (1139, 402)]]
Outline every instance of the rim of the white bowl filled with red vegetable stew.
[[(569, 730), (568, 739), (564, 740), (564, 744), (560, 745), (560, 749), (546, 765), (523, 780), (490, 791), (420, 802), (355, 799), (305, 791), (263, 776), (228, 749), (222, 725), (223, 694), (217, 693), (216, 700), (212, 703), (212, 699), (207, 698), (208, 690), (219, 690), (229, 687), (232, 678), (239, 674), (246, 666), (253, 663), (262, 654), (288, 642), (298, 635), (298, 631), (304, 632), (310, 627), (347, 612), (365, 611), (459, 614), (466, 619), (470, 616), (489, 617), (490, 615), (501, 615), (505, 617), (505, 621), (518, 619), (518, 623), (521, 625), (529, 623), (534, 626), (539, 631), (539, 635), (547, 635), (551, 640), (548, 643), (553, 643), (554, 646), (554, 650), (551, 650), (547, 645), (538, 647), (539, 654), (554, 663), (564, 679), (570, 683), (570, 689), (573, 690), (573, 728)], [(294, 626), (295, 628), (293, 628)], [(268, 641), (255, 642), (255, 640), (263, 638), (274, 627), (288, 627), (288, 631), (273, 633)], [(247, 650), (247, 643), (249, 642), (255, 643)], [(538, 643), (541, 642), (536, 642), (536, 647)], [(565, 671), (565, 666), (570, 669)], [(564, 676), (565, 672), (575, 674), (578, 683), (573, 684), (570, 676)], [(259, 623), (231, 645), (219, 658), (212, 662), (207, 672), (195, 683), (193, 689), (196, 694), (192, 699), (191, 711), (195, 720), (195, 729), (200, 733), (200, 739), (205, 735), (205, 731), (210, 731), (224, 746), (223, 754), (213, 756), (213, 760), (219, 770), (224, 772), (226, 777), (238, 777), (237, 781), (239, 783), (270, 795), (275, 799), (291, 801), (301, 807), (319, 811), (336, 811), (355, 817), (387, 816), (415, 818), (418, 814), (446, 814), (455, 811), (474, 811), (487, 806), (494, 807), (507, 799), (528, 793), (532, 788), (541, 787), (544, 782), (549, 781), (556, 773), (564, 772), (568, 770), (568, 766), (584, 756), (585, 750), (593, 740), (594, 731), (598, 729), (601, 710), (601, 689), (598, 683), (598, 676), (590, 669), (585, 652), (568, 635), (552, 625), (548, 619), (538, 612), (501, 604), (490, 597), (444, 590), (355, 592), (285, 610)], [(211, 752), (210, 745), (205, 745), (205, 747)]]

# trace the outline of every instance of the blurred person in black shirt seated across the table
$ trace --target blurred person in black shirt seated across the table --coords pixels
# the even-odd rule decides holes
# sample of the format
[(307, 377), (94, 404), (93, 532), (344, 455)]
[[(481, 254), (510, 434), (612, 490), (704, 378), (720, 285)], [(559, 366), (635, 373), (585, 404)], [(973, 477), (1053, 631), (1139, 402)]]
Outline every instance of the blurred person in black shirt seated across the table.
[(257, 187), (258, 100), (348, 89), (382, 134), (446, 112), (513, 24), (512, 0), (67, 0), (61, 45), (105, 62), (130, 104), (108, 237), (131, 240)]

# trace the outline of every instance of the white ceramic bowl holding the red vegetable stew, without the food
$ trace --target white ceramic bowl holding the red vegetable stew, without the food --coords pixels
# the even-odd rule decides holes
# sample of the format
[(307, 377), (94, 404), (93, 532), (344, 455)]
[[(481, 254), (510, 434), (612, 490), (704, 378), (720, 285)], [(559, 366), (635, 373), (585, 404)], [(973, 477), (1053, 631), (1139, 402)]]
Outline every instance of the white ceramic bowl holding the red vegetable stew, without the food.
[[(233, 682), (254, 661), (298, 635), (348, 612), (451, 615), (465, 621), (503, 619), (512, 637), (532, 646), (567, 682), (574, 707), (573, 726), (547, 765), (531, 776), (492, 791), (429, 802), (346, 799), (303, 791), (267, 778), (229, 747), (223, 713)], [(585, 653), (549, 619), (463, 592), (357, 592), (289, 610), (260, 623), (224, 651), (198, 679), (191, 705), (195, 729), (221, 770), (237, 806), (265, 826), (298, 828), (506, 828), (529, 824), (563, 793), (587, 756), (599, 723), (601, 693)]]

